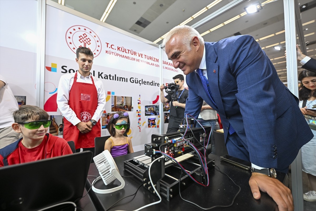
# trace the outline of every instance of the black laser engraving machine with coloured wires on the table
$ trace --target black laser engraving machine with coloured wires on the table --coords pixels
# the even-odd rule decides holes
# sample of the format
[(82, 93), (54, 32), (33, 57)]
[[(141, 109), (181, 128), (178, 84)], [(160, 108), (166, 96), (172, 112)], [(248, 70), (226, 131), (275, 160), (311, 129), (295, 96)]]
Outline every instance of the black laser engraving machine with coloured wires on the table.
[[(214, 168), (214, 160), (208, 159), (211, 153), (211, 127), (190, 128), (181, 125), (179, 130), (163, 135), (153, 134), (151, 143), (145, 144), (144, 155), (124, 161), (124, 171), (143, 181), (144, 188), (154, 194), (155, 186), (157, 192), (168, 201), (179, 194), (179, 185), (181, 190), (193, 182), (207, 186), (208, 170)], [(155, 159), (158, 160), (154, 162)], [(153, 166), (149, 172), (151, 164)]]

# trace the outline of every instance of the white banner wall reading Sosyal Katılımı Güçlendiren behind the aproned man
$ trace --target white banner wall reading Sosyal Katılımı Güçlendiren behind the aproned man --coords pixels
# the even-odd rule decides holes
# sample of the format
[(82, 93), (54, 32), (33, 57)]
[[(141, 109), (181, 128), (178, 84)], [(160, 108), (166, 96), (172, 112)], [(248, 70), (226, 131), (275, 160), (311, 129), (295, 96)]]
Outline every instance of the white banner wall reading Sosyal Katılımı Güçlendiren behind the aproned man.
[[(46, 6), (46, 72), (45, 105), (50, 115), (61, 115), (56, 96), (59, 78), (78, 69), (76, 49), (88, 47), (94, 53), (91, 73), (100, 78), (106, 90), (106, 116), (123, 109), (128, 104), (134, 151), (143, 150), (151, 142), (151, 135), (159, 133), (163, 116), (159, 112), (145, 115), (145, 107), (159, 105), (159, 49), (125, 34), (100, 26), (78, 16)], [(163, 61), (164, 83), (173, 82), (172, 77), (180, 70), (172, 67), (167, 56)], [(180, 71), (181, 72), (181, 71)], [(116, 101), (114, 101), (116, 97)], [(122, 98), (123, 97), (123, 98)], [(118, 99), (124, 99), (122, 104)], [(164, 114), (162, 114), (164, 115)], [(167, 124), (165, 124), (167, 129)], [(166, 130), (165, 129), (165, 130)], [(107, 129), (102, 136), (109, 135)]]

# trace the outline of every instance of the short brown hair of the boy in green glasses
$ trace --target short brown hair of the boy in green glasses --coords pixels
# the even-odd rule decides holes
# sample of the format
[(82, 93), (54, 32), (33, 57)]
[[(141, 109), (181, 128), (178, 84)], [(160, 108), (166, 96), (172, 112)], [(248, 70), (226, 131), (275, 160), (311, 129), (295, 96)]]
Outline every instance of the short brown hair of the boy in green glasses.
[(12, 115), (15, 122), (49, 120), (49, 115), (46, 111), (32, 105), (23, 105), (19, 109), (13, 111)]

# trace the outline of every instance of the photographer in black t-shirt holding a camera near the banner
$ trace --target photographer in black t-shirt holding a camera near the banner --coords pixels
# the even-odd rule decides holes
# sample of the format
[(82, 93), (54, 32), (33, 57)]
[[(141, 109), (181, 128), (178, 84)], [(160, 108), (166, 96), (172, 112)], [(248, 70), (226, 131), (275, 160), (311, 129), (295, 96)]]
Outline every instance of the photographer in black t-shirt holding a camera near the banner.
[[(169, 124), (167, 133), (177, 132), (179, 125), (184, 117), (185, 101), (189, 95), (189, 91), (183, 87), (184, 77), (179, 74), (172, 78), (174, 83), (168, 84), (169, 87), (165, 87), (164, 84), (160, 86), (160, 100), (162, 103), (170, 103)], [(167, 89), (170, 90), (167, 90)], [(164, 95), (163, 90), (166, 89), (167, 96)]]

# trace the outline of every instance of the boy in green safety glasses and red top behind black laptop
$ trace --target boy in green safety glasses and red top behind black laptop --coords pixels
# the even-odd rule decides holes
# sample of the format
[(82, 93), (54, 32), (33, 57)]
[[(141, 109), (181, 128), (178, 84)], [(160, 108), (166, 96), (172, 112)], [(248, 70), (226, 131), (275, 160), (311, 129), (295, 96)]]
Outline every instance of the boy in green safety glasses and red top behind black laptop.
[(72, 154), (66, 140), (47, 133), (52, 120), (43, 109), (24, 105), (12, 115), (12, 128), (22, 138), (0, 149), (0, 167)]

